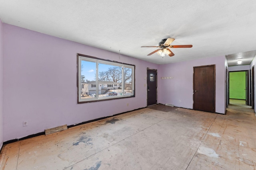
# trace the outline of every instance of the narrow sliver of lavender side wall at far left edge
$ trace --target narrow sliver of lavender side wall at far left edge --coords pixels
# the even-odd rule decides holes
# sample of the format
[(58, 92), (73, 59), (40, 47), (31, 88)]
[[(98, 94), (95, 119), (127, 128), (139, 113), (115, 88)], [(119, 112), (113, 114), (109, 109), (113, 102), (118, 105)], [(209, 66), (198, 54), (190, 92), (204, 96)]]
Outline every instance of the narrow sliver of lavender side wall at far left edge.
[(3, 23), (0, 19), (0, 148), (3, 145)]

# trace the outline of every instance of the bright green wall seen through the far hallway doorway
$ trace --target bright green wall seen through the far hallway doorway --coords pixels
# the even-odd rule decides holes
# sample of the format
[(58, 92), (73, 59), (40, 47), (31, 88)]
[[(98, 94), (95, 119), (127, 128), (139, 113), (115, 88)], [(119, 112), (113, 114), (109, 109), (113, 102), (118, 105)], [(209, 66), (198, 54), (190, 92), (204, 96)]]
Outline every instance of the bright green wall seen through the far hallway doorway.
[(229, 72), (229, 98), (246, 100), (246, 72)]

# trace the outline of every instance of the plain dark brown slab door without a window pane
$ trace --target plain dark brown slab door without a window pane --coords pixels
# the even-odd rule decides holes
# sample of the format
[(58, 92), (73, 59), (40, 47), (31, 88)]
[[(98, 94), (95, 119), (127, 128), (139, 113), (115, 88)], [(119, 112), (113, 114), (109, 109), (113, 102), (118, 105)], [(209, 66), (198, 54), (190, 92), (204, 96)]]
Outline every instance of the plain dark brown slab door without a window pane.
[(215, 113), (215, 65), (194, 67), (193, 109)]

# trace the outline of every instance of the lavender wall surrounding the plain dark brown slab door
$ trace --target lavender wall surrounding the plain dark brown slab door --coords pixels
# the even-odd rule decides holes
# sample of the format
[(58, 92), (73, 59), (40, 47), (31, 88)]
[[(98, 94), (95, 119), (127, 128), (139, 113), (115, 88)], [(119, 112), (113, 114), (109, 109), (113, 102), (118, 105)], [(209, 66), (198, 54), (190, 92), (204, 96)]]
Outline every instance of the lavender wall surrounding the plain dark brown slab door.
[[(216, 112), (225, 113), (225, 56), (164, 64), (158, 71), (159, 103), (193, 108), (193, 67), (216, 64)], [(181, 100), (181, 102), (179, 102)]]

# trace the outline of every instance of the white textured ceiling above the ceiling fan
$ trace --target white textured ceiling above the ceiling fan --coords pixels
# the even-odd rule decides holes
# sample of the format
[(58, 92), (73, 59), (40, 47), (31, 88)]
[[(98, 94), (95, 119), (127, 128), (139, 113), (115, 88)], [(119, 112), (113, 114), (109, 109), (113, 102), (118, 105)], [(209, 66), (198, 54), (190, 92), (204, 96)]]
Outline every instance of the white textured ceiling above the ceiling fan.
[[(256, 50), (255, 0), (0, 0), (0, 18), (157, 64)], [(168, 37), (193, 47), (164, 58), (141, 48)]]

